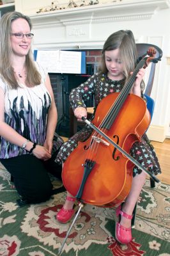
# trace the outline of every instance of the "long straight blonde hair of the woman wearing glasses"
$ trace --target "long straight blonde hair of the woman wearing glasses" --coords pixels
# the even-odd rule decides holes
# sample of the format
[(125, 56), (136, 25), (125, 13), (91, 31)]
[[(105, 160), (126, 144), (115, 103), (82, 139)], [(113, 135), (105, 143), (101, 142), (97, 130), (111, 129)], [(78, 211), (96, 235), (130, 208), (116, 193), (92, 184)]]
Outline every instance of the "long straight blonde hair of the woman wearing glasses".
[[(15, 73), (12, 67), (12, 46), (10, 36), (12, 33), (12, 22), (19, 18), (26, 20), (31, 30), (31, 20), (29, 17), (23, 15), (20, 12), (6, 13), (0, 20), (0, 75), (1, 78), (6, 81), (6, 83), (8, 83), (8, 85), (13, 89), (19, 87), (19, 83), (15, 77)], [(36, 69), (31, 49), (29, 49), (29, 52), (26, 55), (25, 68), (26, 85), (35, 86), (40, 84), (42, 77)]]

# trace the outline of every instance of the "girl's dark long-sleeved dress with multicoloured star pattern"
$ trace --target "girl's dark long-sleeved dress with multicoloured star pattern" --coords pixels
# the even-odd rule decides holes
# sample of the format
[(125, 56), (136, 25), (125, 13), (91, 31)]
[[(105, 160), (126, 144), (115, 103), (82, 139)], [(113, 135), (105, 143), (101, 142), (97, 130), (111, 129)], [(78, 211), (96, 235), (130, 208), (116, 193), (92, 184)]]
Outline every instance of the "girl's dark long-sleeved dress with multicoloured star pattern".
[[(73, 110), (79, 107), (86, 108), (84, 101), (91, 99), (91, 95), (93, 94), (95, 100), (95, 107), (97, 107), (99, 102), (110, 93), (121, 92), (124, 83), (124, 79), (120, 81), (112, 81), (111, 79), (109, 79), (109, 77), (107, 77), (107, 74), (95, 74), (89, 77), (89, 79), (85, 83), (72, 90), (72, 92), (70, 93), (70, 104)], [(59, 163), (64, 163), (66, 158), (70, 155), (74, 148), (77, 147), (78, 142), (88, 140), (92, 132), (93, 129), (88, 125), (85, 125), (84, 128), (81, 129), (81, 131), (74, 134), (68, 141), (66, 141), (62, 145), (56, 161)], [(130, 149), (130, 155), (136, 161), (138, 161), (139, 164), (141, 164), (144, 168), (148, 169), (154, 175), (161, 173), (157, 156), (146, 134), (143, 134), (141, 141), (137, 141), (134, 143), (134, 145)], [(140, 168), (134, 166), (133, 176), (141, 172), (142, 171)]]

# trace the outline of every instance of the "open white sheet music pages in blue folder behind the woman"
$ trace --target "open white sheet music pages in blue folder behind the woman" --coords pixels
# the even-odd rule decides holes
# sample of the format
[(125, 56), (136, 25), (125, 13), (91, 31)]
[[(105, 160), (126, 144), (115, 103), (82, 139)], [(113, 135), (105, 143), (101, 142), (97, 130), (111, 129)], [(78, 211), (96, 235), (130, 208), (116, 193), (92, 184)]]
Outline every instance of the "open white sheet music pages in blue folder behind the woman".
[(36, 61), (47, 67), (49, 73), (81, 74), (81, 52), (40, 50), (37, 51)]

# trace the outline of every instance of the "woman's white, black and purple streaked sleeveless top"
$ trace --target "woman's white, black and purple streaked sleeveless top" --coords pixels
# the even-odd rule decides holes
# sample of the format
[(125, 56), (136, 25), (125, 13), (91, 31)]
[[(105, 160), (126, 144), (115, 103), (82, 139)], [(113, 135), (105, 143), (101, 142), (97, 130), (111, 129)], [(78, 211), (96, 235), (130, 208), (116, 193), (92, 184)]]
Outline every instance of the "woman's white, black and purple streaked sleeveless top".
[[(36, 63), (42, 76), (42, 83), (27, 87), (19, 84), (15, 89), (0, 78), (0, 87), (4, 91), (4, 122), (15, 131), (39, 145), (43, 145), (46, 137), (47, 113), (50, 108), (51, 98), (45, 86), (47, 70)], [(0, 159), (28, 154), (26, 150), (6, 141), (0, 137)]]

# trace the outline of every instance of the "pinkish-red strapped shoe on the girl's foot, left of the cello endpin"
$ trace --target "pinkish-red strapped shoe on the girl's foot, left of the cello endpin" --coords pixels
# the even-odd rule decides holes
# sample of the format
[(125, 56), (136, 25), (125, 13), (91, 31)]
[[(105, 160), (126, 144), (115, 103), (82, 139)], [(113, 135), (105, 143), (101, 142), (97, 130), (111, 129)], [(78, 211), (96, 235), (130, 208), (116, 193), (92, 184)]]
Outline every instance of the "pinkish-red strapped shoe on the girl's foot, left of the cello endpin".
[[(66, 200), (75, 202), (75, 198), (71, 196), (66, 196)], [(64, 207), (62, 207), (58, 212), (56, 219), (61, 223), (67, 223), (72, 219), (73, 214), (75, 214), (74, 209), (66, 210)]]

